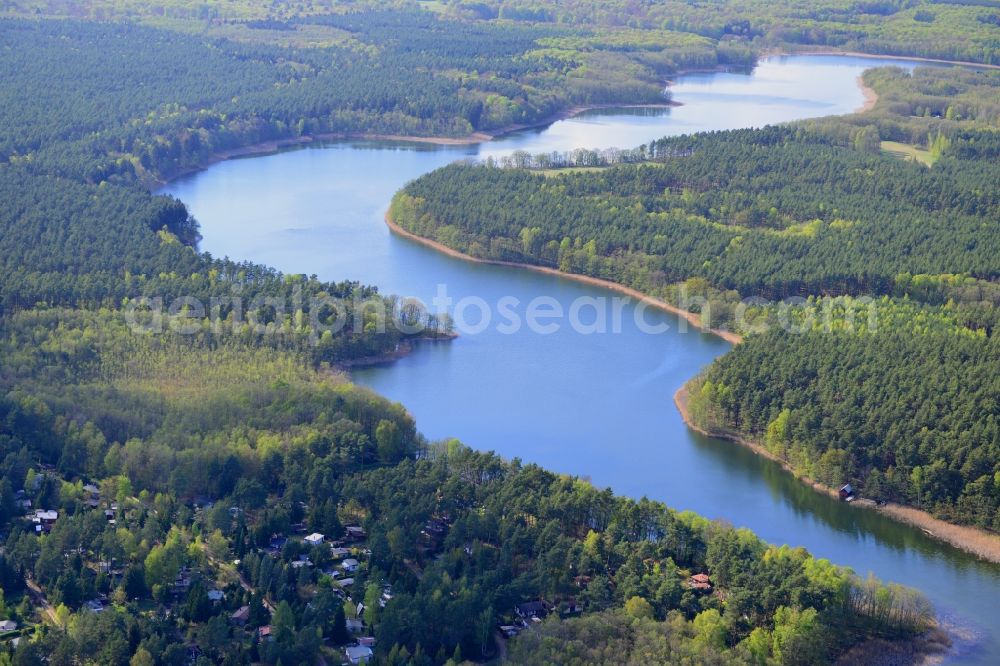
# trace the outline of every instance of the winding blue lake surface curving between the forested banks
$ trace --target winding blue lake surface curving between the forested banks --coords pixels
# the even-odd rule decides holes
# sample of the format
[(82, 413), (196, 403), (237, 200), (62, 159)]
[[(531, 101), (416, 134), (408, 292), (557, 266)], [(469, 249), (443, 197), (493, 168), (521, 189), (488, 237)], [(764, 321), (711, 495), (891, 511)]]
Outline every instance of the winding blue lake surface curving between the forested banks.
[[(470, 264), (389, 234), (382, 215), (407, 181), (452, 161), (573, 148), (628, 148), (664, 135), (754, 127), (850, 113), (856, 79), (885, 60), (803, 56), (764, 61), (752, 74), (685, 76), (683, 106), (587, 113), (476, 146), (345, 141), (217, 164), (164, 188), (200, 220), (203, 249), (286, 272), (378, 285), (427, 302), (445, 285), (456, 301), (554, 298), (568, 310), (605, 290), (555, 276)], [(912, 68), (912, 63), (895, 62)], [(475, 310), (468, 319), (475, 322)], [(589, 314), (588, 314), (589, 313)], [(354, 373), (402, 402), (429, 438), (589, 477), (616, 492), (662, 500), (746, 526), (774, 543), (923, 590), (942, 619), (970, 638), (955, 663), (1000, 663), (1000, 568), (914, 530), (809, 490), (751, 452), (690, 432), (672, 403), (687, 379), (729, 345), (675, 318), (631, 305), (621, 331), (583, 335), (563, 321), (542, 335), (493, 325), (452, 343), (422, 344), (403, 360)], [(585, 311), (581, 319), (594, 315)]]

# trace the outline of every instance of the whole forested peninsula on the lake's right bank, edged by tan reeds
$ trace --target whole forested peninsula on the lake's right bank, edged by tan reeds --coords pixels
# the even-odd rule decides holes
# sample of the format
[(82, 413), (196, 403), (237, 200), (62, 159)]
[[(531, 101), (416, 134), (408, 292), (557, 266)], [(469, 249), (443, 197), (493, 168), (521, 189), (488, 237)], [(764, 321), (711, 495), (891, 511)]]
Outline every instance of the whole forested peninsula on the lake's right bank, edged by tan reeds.
[(607, 168), (453, 165), (392, 215), (476, 257), (605, 278), (750, 334), (692, 385), (699, 423), (829, 486), (1000, 530), (1000, 76), (865, 81), (879, 93), (866, 114), (662, 139)]

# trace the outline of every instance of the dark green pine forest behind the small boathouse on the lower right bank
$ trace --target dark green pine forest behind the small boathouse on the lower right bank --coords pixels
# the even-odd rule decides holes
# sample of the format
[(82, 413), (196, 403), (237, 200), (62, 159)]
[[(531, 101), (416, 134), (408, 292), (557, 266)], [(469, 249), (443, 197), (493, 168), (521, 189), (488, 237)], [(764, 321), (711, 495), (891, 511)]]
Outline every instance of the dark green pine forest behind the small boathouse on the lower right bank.
[(832, 330), (827, 305), (710, 366), (689, 386), (694, 418), (828, 486), (1000, 531), (995, 305), (847, 300)]

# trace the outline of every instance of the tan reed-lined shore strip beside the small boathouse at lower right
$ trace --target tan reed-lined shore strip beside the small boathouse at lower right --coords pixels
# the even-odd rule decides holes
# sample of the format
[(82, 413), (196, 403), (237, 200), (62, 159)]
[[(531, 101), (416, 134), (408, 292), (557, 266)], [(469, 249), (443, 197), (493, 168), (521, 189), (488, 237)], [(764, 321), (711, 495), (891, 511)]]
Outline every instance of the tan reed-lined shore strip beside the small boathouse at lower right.
[[(688, 384), (690, 381), (691, 380), (685, 382), (684, 385), (677, 389), (677, 392), (674, 394), (674, 405), (677, 406), (677, 411), (680, 412), (681, 418), (684, 419), (684, 423), (688, 428), (706, 437), (725, 439), (745, 446), (757, 455), (763, 456), (768, 460), (781, 465), (782, 469), (790, 473), (798, 481), (810, 486), (813, 490), (834, 499), (839, 498), (839, 495), (834, 488), (819, 483), (818, 481), (814, 481), (807, 476), (797, 474), (787, 461), (768, 451), (760, 444), (760, 442), (749, 439), (740, 433), (709, 430), (695, 423), (695, 421), (691, 418), (690, 411), (688, 410)], [(892, 520), (918, 528), (930, 538), (946, 543), (954, 548), (968, 553), (969, 555), (973, 555), (993, 564), (1000, 564), (1000, 536), (995, 534), (990, 534), (989, 532), (975, 527), (949, 523), (941, 520), (940, 518), (935, 518), (926, 511), (922, 511), (916, 507), (907, 506), (905, 504), (897, 504), (895, 502), (887, 502), (886, 504), (878, 505), (871, 500), (858, 500), (852, 502), (852, 506), (874, 510)]]

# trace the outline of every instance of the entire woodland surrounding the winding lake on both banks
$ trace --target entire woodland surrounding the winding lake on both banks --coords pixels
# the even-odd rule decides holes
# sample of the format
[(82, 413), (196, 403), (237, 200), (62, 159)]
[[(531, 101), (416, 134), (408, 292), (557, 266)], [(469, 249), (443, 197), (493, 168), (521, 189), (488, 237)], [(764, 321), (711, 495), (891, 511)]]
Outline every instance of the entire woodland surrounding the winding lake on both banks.
[[(0, 666), (347, 647), (419, 666), (812, 664), (931, 629), (918, 592), (803, 549), (426, 441), (344, 373), (417, 337), (397, 299), (201, 252), (184, 204), (150, 193), (258, 144), (663, 104), (668, 77), (773, 48), (1000, 57), (993, 3), (814, 5), (0, 1)], [(861, 116), (560, 158), (586, 172), (451, 166), (392, 212), (477, 257), (672, 302), (683, 287), (713, 325), (737, 327), (750, 295), (809, 297), (802, 321), (833, 303), (834, 335), (740, 329), (692, 412), (817, 478), (1000, 529), (1000, 77), (866, 83), (881, 101)], [(864, 296), (893, 326), (845, 323)], [(136, 332), (178, 297), (214, 308)], [(506, 640), (522, 620), (536, 629)]]

